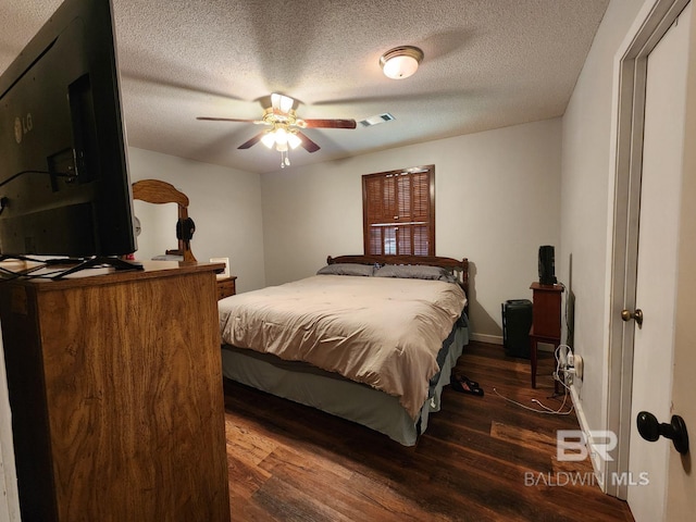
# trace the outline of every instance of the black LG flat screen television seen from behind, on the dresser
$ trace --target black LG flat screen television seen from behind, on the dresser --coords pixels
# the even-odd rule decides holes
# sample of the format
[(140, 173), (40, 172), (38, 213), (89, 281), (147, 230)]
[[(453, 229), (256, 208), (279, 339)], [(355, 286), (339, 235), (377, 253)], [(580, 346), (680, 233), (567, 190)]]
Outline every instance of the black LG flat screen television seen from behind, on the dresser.
[(65, 0), (0, 76), (0, 254), (135, 250), (112, 4)]

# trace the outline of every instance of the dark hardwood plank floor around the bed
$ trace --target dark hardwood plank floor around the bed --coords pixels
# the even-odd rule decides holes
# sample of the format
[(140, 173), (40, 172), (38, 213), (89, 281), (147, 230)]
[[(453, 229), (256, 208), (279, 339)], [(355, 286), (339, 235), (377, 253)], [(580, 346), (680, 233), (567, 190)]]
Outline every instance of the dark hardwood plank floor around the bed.
[(574, 413), (535, 413), (494, 393), (558, 409), (560, 399), (548, 398), (552, 366), (542, 355), (532, 389), (527, 360), (472, 343), (456, 371), (478, 381), (485, 396), (446, 387), (443, 410), (412, 448), (225, 383), (232, 520), (633, 520), (625, 502), (592, 484), (589, 461), (557, 461), (556, 431), (577, 428)]

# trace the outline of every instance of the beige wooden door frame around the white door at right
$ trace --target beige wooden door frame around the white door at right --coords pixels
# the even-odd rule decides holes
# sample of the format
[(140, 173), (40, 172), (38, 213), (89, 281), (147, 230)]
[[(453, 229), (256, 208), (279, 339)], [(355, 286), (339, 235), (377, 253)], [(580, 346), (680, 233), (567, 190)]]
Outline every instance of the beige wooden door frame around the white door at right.
[[(633, 322), (621, 320), (621, 310), (635, 310), (641, 173), (643, 169), (643, 126), (647, 57), (671, 27), (689, 0), (655, 0), (639, 11), (614, 61), (614, 92), (608, 228), (607, 346), (608, 395), (607, 430), (618, 437), (613, 460), (595, 461), (605, 477), (609, 495), (626, 499), (627, 484), (606, 477), (629, 471), (631, 397), (633, 388)], [(613, 191), (611, 191), (613, 189)]]

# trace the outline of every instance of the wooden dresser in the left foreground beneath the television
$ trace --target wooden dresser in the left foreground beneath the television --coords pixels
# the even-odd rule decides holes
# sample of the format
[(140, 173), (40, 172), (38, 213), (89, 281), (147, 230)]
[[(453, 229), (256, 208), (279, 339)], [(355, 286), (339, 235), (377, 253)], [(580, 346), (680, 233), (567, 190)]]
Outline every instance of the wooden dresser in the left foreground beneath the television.
[(22, 520), (229, 520), (214, 270), (0, 283)]

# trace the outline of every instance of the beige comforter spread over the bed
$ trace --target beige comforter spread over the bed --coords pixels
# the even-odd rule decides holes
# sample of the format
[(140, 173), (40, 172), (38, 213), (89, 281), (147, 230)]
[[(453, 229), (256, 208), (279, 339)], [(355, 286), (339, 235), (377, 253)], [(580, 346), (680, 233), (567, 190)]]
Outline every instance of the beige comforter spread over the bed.
[(399, 398), (415, 419), (467, 297), (439, 281), (315, 275), (219, 302), (222, 341)]

